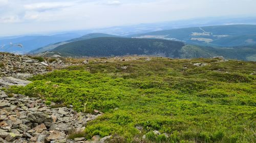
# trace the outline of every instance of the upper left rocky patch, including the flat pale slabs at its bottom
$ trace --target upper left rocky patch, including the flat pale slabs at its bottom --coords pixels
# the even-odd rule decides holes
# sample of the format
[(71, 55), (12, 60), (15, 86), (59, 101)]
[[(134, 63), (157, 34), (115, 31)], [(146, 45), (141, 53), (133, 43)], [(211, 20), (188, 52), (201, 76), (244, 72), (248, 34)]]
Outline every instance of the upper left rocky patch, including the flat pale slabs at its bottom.
[(66, 64), (60, 59), (49, 62), (38, 57), (33, 59), (27, 55), (15, 55), (0, 52), (0, 87), (9, 85), (26, 85), (30, 83), (27, 78), (37, 74), (45, 74), (54, 69), (67, 67), (74, 64)]

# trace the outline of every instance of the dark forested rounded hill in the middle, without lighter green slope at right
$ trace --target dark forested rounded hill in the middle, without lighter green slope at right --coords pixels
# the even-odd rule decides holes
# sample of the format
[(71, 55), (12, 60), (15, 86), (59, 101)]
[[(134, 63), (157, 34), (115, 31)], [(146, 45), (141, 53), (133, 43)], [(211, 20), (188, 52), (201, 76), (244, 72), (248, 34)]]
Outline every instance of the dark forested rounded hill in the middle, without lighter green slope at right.
[(182, 42), (159, 39), (102, 37), (64, 44), (53, 49), (65, 56), (158, 55), (179, 58)]

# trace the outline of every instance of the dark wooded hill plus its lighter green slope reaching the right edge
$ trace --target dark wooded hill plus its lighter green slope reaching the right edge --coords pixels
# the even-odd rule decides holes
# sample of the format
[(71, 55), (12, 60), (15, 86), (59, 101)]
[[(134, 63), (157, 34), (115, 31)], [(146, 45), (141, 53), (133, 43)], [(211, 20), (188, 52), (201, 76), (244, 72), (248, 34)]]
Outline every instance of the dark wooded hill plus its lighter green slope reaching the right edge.
[(256, 45), (210, 47), (185, 45), (183, 42), (162, 39), (101, 37), (63, 44), (45, 55), (50, 56), (53, 54), (72, 57), (122, 56), (136, 54), (180, 59), (223, 56), (226, 59), (256, 61)]

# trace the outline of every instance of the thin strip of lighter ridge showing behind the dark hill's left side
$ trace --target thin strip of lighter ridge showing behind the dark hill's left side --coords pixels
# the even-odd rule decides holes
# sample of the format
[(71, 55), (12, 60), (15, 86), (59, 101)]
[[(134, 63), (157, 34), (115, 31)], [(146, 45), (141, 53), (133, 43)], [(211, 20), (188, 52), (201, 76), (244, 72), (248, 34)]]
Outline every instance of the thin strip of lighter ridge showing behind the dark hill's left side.
[(103, 34), (103, 33), (92, 33), (92, 34), (87, 34), (87, 35), (84, 35), (82, 37), (71, 39), (71, 40), (68, 40), (68, 41), (62, 41), (62, 42), (50, 44), (50, 45), (47, 45), (45, 47), (41, 47), (41, 48), (38, 48), (36, 50), (32, 50), (32, 51), (30, 51), (30, 53), (31, 54), (35, 54), (35, 53), (39, 53), (39, 52), (50, 51), (50, 50), (52, 50), (52, 49), (54, 49), (54, 48), (56, 48), (56, 47), (58, 47), (60, 45), (64, 45), (64, 44), (75, 42), (75, 41), (81, 41), (81, 40), (87, 40), (87, 39), (92, 39), (92, 38), (98, 38), (98, 37), (119, 37), (119, 36)]

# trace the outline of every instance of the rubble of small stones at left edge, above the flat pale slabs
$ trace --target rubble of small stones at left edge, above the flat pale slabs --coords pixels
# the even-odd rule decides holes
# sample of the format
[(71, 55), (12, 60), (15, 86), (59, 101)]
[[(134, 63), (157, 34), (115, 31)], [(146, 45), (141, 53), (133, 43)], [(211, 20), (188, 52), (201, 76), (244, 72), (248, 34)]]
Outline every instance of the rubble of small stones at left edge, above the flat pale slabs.
[(0, 52), (0, 76), (12, 76), (26, 79), (36, 74), (43, 74), (52, 69), (62, 68), (73, 64), (66, 64), (60, 59), (51, 62), (39, 62), (27, 55), (15, 55)]

